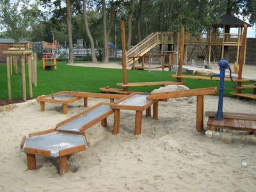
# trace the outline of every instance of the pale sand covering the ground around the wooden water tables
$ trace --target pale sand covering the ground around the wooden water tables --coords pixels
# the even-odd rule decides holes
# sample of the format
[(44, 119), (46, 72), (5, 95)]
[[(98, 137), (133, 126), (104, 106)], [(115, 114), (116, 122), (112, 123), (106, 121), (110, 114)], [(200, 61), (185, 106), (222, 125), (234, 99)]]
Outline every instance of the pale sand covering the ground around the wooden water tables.
[[(176, 88), (175, 88), (176, 89)], [(88, 106), (107, 99), (88, 99)], [(205, 96), (205, 111), (216, 111), (218, 97)], [(224, 99), (224, 111), (255, 113), (256, 102)], [(27, 170), (20, 140), (29, 132), (54, 128), (84, 110), (83, 100), (68, 106), (35, 100), (0, 113), (0, 191), (255, 191), (255, 145), (225, 144), (195, 130), (195, 98), (159, 102), (159, 120), (145, 118), (134, 136), (135, 111), (121, 111), (120, 134), (114, 136), (113, 115), (108, 127), (88, 129), (89, 150), (74, 154), (69, 172), (58, 174), (58, 161), (36, 157)], [(204, 118), (206, 129), (207, 118)], [(243, 166), (246, 162), (247, 166)]]

